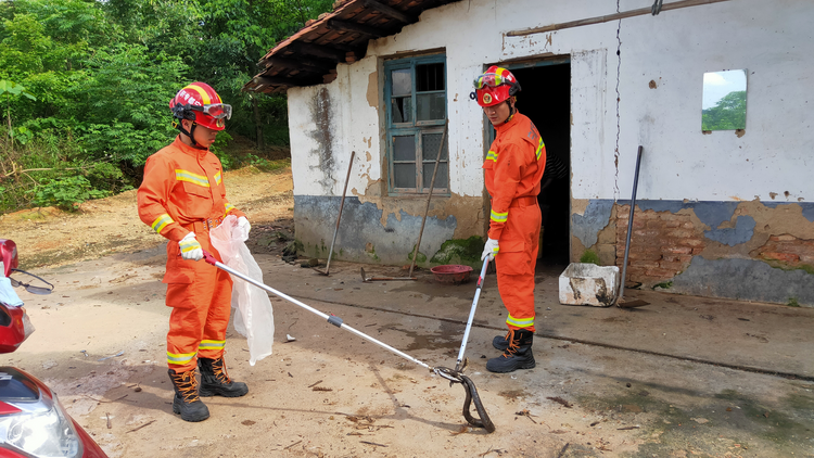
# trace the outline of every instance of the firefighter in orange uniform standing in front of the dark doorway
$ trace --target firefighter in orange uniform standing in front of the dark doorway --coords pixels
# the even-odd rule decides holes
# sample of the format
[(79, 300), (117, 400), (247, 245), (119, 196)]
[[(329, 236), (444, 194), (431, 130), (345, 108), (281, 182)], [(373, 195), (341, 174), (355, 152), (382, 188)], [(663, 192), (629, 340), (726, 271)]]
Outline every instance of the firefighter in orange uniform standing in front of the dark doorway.
[(488, 256), (495, 260), (497, 288), (509, 315), (509, 332), (492, 341), (504, 353), (486, 361), (486, 369), (511, 372), (535, 366), (534, 267), (540, 228), (537, 194), (546, 168), (546, 145), (531, 119), (514, 107), (520, 85), (511, 72), (493, 65), (474, 86), (471, 98), (497, 131), (483, 163), (492, 214), (481, 259)]

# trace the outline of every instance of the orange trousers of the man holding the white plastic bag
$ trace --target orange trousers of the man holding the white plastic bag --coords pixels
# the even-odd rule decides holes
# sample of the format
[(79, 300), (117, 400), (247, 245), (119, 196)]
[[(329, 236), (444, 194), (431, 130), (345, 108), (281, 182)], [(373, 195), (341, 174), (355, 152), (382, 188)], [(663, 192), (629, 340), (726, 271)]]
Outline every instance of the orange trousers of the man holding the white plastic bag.
[[(204, 250), (219, 258), (207, 237), (199, 240)], [(231, 311), (232, 280), (217, 267), (181, 259), (177, 253), (171, 253), (178, 251), (175, 245), (174, 250), (168, 250), (167, 259), (167, 271), (175, 273), (167, 276), (166, 303), (173, 307), (167, 332), (167, 366), (183, 372), (196, 367), (198, 357), (215, 359), (222, 355)], [(193, 356), (176, 359), (170, 355)]]

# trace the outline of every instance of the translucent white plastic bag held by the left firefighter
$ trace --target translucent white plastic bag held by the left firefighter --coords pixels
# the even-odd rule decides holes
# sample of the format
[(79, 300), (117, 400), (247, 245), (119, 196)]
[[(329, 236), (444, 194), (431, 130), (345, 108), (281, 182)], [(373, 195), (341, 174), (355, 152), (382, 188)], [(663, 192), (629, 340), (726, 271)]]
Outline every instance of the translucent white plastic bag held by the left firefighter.
[[(215, 250), (220, 253), (224, 264), (253, 280), (263, 283), (263, 271), (254, 260), (245, 244), (249, 234), (238, 227), (238, 218), (229, 215), (220, 226), (209, 231), (209, 240)], [(271, 354), (275, 336), (275, 316), (271, 301), (265, 290), (232, 277), (232, 308), (234, 314), (234, 330), (246, 338), (249, 343), (249, 364), (257, 361)]]

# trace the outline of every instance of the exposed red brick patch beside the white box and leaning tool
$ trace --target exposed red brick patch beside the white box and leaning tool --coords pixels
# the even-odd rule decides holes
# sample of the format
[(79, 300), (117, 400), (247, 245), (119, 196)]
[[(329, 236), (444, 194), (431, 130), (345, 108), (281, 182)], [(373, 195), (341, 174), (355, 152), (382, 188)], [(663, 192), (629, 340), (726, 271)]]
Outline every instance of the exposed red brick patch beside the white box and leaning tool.
[[(629, 205), (616, 206), (616, 266), (624, 263)], [(696, 229), (689, 215), (671, 212), (641, 212), (633, 216), (628, 282), (652, 285), (684, 271), (694, 255), (703, 251), (703, 231)]]

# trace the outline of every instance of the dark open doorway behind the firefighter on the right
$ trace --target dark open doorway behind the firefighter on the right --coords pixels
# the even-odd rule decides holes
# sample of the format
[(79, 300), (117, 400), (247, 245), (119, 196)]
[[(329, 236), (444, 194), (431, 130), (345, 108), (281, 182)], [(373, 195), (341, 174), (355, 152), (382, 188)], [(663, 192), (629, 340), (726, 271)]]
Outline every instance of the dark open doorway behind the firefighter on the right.
[[(543, 180), (550, 179), (550, 182), (537, 201), (543, 214), (539, 263), (549, 266), (570, 263), (571, 65), (562, 62), (507, 65), (522, 87), (518, 111), (532, 119), (546, 143)], [(559, 163), (559, 174), (556, 163)]]

